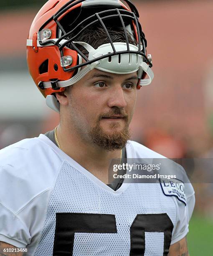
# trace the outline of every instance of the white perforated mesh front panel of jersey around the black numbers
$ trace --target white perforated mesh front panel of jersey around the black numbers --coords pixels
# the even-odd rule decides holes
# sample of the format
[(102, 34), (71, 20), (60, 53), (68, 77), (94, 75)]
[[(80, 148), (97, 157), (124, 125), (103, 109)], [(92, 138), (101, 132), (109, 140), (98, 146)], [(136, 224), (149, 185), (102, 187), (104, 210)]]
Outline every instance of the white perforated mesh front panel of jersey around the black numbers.
[[(162, 195), (160, 184), (130, 184), (125, 191), (114, 195), (96, 185), (67, 162), (61, 166), (52, 189), (41, 242), (38, 243), (33, 255), (52, 255), (56, 212), (115, 215), (117, 223), (115, 234), (75, 233), (73, 249), (75, 256), (127, 256), (130, 251), (129, 227), (137, 214), (166, 212), (174, 226), (177, 217), (175, 203), (169, 197), (165, 198)], [(146, 232), (145, 238), (145, 256), (163, 255), (163, 233)]]

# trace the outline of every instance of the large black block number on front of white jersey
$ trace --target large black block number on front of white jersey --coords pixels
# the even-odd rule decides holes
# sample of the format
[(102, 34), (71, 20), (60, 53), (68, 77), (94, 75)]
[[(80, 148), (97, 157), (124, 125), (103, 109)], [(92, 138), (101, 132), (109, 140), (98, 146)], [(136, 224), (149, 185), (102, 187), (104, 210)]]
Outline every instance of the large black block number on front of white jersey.
[[(163, 256), (169, 253), (173, 224), (166, 213), (138, 214), (130, 228), (130, 256), (145, 253), (145, 232), (164, 233)], [(76, 233), (117, 233), (115, 215), (90, 213), (56, 213), (56, 230), (53, 256), (70, 256), (73, 253)]]

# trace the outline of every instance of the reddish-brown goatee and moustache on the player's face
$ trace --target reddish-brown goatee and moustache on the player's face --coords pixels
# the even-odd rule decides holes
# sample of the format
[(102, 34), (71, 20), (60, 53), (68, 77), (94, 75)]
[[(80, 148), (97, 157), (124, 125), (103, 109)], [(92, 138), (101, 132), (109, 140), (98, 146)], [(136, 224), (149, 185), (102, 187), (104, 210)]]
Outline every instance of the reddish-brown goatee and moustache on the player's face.
[(106, 151), (122, 149), (124, 146), (126, 146), (127, 141), (131, 138), (127, 115), (124, 115), (125, 125), (122, 131), (116, 131), (116, 129), (120, 126), (120, 123), (117, 122), (112, 122), (110, 124), (110, 128), (112, 128), (112, 130), (114, 129), (115, 131), (107, 133), (103, 130), (103, 128), (101, 128), (101, 118), (109, 117), (110, 115), (114, 114), (116, 115), (123, 113), (121, 113), (121, 110), (115, 109), (111, 113), (108, 113), (106, 115), (100, 115), (99, 120), (96, 122), (96, 125), (93, 128), (91, 128), (91, 131), (89, 132), (92, 142), (96, 146), (99, 146), (101, 149)]

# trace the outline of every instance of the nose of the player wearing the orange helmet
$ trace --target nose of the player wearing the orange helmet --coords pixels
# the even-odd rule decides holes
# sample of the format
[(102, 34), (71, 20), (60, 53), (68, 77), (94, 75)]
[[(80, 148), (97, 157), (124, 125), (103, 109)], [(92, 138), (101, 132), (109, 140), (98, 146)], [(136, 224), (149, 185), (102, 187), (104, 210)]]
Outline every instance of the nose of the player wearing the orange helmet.
[(113, 108), (125, 108), (127, 106), (127, 102), (124, 97), (124, 90), (121, 86), (114, 87), (114, 89), (110, 92), (108, 107)]

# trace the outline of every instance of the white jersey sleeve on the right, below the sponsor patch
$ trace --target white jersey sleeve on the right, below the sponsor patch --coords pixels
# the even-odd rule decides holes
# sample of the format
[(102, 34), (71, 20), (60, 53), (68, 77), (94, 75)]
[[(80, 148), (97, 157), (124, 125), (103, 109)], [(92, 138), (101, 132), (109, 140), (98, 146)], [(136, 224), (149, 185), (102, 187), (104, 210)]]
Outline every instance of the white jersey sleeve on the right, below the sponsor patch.
[(172, 241), (176, 243), (189, 232), (189, 221), (195, 206), (195, 192), (191, 183), (185, 183), (186, 205), (177, 200), (177, 222), (172, 234)]

